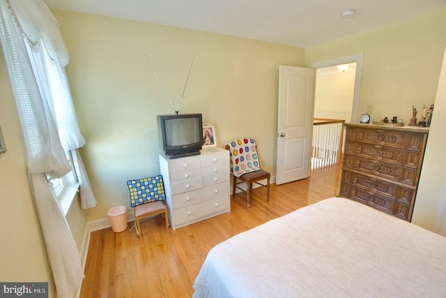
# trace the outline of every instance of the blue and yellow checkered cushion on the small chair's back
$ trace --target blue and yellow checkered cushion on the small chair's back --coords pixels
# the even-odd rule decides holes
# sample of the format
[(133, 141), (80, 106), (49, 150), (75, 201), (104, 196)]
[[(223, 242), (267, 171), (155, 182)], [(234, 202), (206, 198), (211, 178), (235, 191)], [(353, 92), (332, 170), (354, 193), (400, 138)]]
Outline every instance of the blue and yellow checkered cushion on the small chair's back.
[(148, 202), (165, 201), (162, 175), (127, 181), (130, 191), (130, 206), (136, 207)]

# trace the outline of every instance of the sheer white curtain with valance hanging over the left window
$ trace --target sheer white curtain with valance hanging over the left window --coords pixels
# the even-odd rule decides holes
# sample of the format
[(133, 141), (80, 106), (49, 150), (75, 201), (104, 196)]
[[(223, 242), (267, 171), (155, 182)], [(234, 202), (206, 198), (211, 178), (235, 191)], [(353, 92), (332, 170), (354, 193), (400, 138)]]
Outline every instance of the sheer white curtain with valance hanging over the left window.
[[(68, 52), (59, 24), (42, 0), (0, 0), (0, 38), (22, 124), (29, 184), (57, 295), (70, 297), (72, 291), (79, 289), (84, 274), (75, 241), (45, 176), (62, 177), (70, 172), (63, 146), (76, 151), (73, 159), (84, 184), (81, 191), (90, 192), (86, 199), (90, 202), (83, 206), (94, 207), (95, 199), (77, 152), (84, 145), (84, 138), (72, 110), (68, 83), (61, 87), (65, 96), (57, 98), (53, 98), (50, 85), (50, 75), (59, 75), (66, 82), (63, 67), (68, 63)], [(55, 71), (47, 67), (48, 58), (57, 66)], [(66, 116), (58, 116), (59, 105), (68, 107)]]

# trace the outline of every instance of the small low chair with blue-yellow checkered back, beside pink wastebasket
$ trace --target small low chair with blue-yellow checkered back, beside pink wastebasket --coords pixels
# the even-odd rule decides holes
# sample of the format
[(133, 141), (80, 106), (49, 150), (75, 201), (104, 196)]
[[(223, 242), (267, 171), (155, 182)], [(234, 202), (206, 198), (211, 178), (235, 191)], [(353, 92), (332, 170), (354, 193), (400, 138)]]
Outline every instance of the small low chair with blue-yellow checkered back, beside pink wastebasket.
[(161, 215), (166, 221), (166, 228), (169, 228), (169, 216), (162, 175), (156, 177), (135, 179), (127, 181), (130, 191), (130, 206), (134, 207), (135, 226), (137, 236), (141, 237), (141, 224), (144, 218)]

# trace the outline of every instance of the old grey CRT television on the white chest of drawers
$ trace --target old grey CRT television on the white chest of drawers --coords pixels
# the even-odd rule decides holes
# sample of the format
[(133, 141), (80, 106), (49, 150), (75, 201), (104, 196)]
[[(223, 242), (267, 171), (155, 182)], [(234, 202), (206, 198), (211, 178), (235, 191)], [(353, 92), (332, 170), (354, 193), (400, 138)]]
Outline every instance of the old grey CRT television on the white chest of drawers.
[(169, 158), (200, 154), (203, 142), (201, 114), (157, 115), (160, 149)]

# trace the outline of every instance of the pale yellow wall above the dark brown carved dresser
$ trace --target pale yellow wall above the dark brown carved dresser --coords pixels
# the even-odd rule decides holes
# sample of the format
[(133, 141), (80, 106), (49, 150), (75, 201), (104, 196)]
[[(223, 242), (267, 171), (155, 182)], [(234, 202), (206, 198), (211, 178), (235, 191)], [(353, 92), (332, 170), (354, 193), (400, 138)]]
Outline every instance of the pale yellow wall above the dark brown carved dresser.
[(397, 116), (406, 124), (434, 102), (446, 44), (446, 9), (366, 33), (309, 47), (306, 65), (364, 54), (358, 115), (373, 106), (373, 120)]

